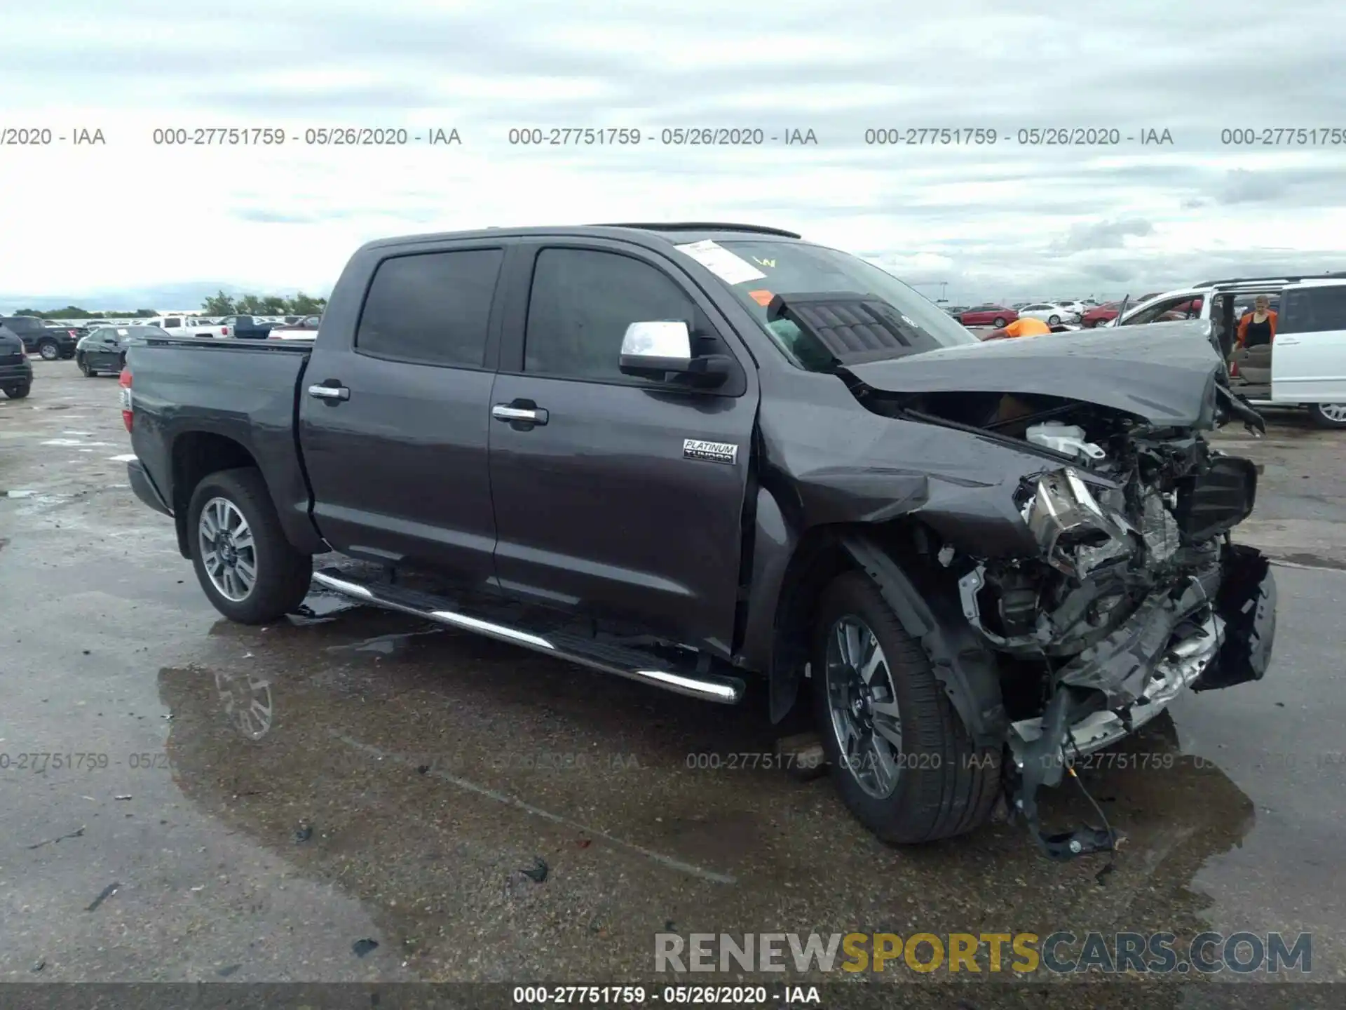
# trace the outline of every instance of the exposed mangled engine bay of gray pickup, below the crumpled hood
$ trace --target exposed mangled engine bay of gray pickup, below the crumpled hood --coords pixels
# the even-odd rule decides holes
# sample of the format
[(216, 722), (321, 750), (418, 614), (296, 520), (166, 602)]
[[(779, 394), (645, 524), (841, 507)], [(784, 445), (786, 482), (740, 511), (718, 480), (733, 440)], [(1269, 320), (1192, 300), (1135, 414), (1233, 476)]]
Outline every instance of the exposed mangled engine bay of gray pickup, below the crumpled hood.
[(1230, 540), (1253, 510), (1256, 467), (1191, 427), (1062, 397), (871, 395), (867, 407), (1057, 458), (1024, 475), (1014, 497), (1036, 555), (985, 556), (946, 541), (938, 563), (999, 660), (1014, 811), (1053, 858), (1112, 848), (1110, 832), (1097, 830), (1043, 835), (1036, 790), (1184, 688), (1263, 676), (1275, 583), (1257, 551)]

